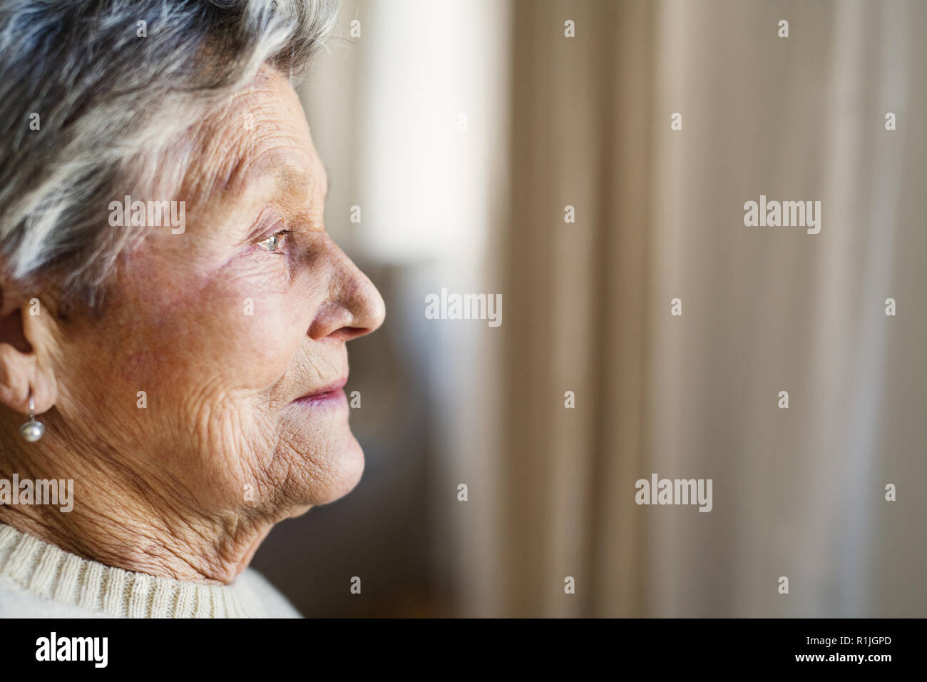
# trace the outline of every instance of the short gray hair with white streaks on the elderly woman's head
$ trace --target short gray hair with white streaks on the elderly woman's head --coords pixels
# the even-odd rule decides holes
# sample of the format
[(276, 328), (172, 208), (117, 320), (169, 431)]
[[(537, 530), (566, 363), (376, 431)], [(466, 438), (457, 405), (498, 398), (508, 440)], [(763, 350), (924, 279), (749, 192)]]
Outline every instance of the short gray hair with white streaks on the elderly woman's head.
[(0, 2), (3, 274), (97, 304), (141, 238), (108, 225), (109, 201), (127, 183), (176, 180), (159, 177), (177, 173), (159, 154), (262, 64), (302, 75), (337, 11), (338, 0)]

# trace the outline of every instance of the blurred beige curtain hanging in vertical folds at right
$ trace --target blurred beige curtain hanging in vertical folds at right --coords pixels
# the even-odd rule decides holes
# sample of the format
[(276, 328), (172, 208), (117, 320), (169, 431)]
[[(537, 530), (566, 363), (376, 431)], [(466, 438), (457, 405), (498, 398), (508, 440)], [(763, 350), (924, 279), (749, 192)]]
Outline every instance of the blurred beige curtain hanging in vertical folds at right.
[[(521, 0), (512, 24), (462, 611), (922, 616), (927, 6)], [(820, 200), (820, 233), (744, 226), (760, 195)], [(712, 479), (712, 511), (636, 505), (653, 472)]]

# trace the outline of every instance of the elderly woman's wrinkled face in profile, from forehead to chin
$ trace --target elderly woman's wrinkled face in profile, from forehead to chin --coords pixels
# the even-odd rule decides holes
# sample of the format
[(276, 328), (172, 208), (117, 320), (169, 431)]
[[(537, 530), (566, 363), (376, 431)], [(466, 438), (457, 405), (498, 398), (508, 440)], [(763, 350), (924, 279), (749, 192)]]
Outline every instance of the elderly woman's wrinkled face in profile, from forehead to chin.
[(279, 520), (361, 478), (345, 343), (385, 307), (324, 231), (324, 165), (285, 76), (261, 70), (195, 139), (184, 232), (151, 228), (102, 313), (63, 323), (57, 407), (93, 415), (83, 435), (161, 501)]

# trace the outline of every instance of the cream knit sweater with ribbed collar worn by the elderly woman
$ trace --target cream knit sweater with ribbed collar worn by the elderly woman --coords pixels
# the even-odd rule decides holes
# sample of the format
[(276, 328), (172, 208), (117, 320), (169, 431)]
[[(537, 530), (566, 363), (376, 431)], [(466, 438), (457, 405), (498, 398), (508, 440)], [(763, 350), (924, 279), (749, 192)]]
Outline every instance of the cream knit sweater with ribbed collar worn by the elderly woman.
[(300, 618), (246, 569), (200, 585), (83, 559), (0, 523), (0, 618)]

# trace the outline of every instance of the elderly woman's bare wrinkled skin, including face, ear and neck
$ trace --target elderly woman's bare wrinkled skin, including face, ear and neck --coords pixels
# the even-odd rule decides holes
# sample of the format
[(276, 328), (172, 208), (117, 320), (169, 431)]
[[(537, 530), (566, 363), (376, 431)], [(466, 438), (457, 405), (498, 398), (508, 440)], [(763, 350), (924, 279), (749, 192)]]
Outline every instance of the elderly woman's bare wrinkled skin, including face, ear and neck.
[[(274, 522), (360, 480), (344, 393), (294, 401), (347, 378), (346, 342), (385, 306), (324, 231), (324, 165), (285, 76), (262, 69), (193, 139), (184, 232), (153, 228), (101, 314), (59, 319), (39, 295), (29, 315), (36, 293), (3, 282), (0, 475), (71, 478), (75, 499), (0, 521), (127, 570), (229, 583)], [(36, 444), (17, 432), (30, 389), (40, 420), (54, 408)]]

